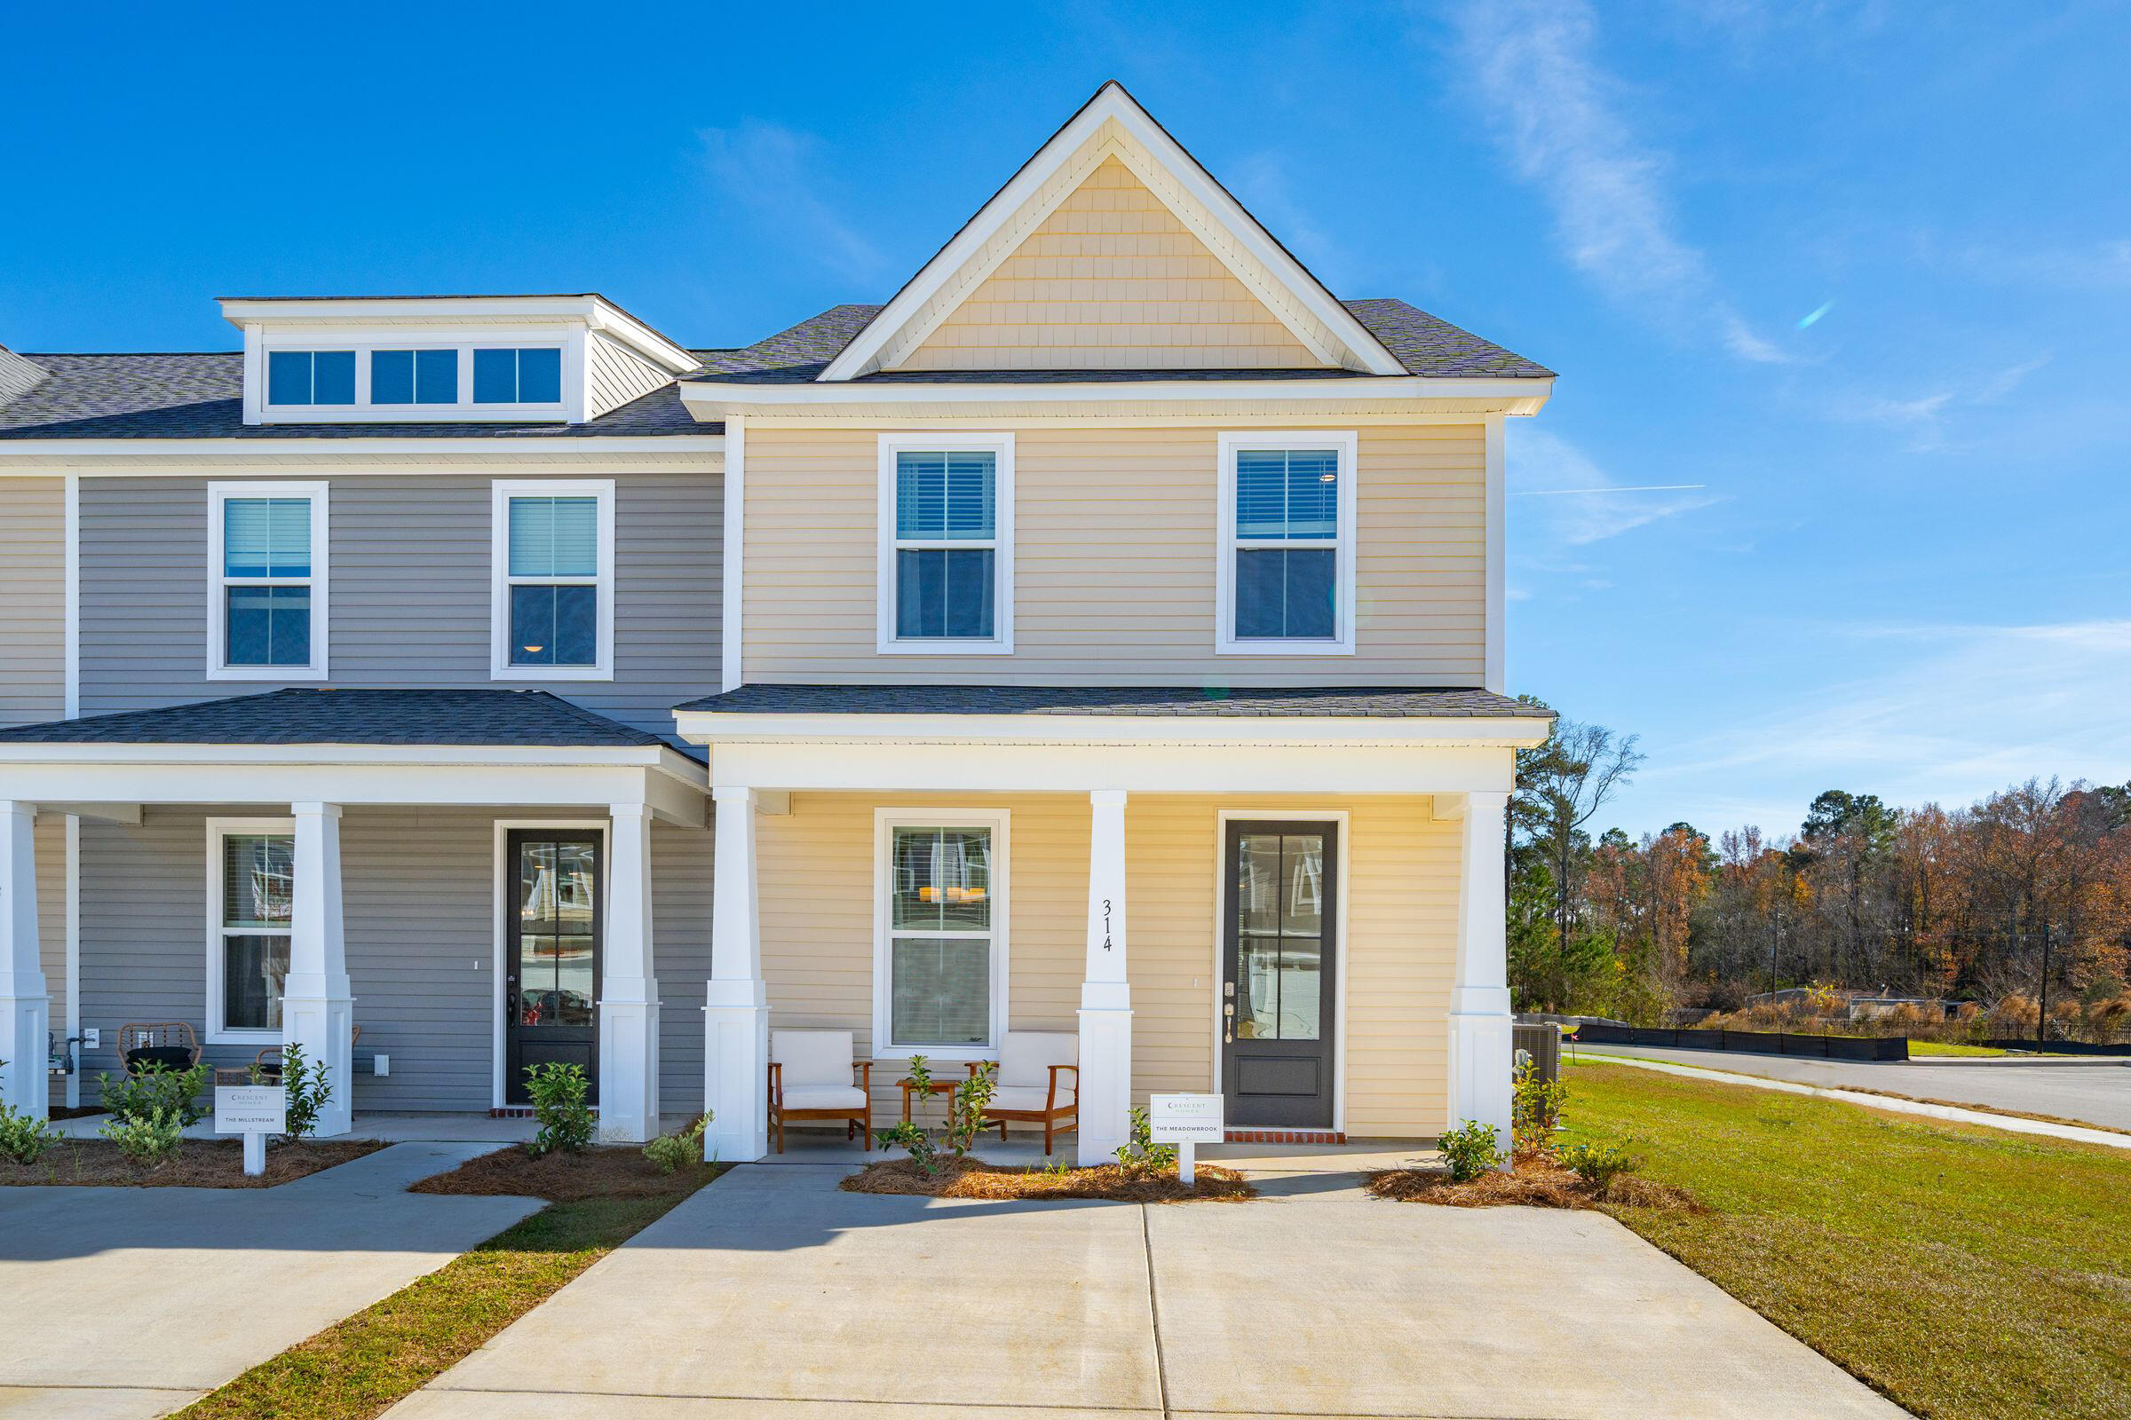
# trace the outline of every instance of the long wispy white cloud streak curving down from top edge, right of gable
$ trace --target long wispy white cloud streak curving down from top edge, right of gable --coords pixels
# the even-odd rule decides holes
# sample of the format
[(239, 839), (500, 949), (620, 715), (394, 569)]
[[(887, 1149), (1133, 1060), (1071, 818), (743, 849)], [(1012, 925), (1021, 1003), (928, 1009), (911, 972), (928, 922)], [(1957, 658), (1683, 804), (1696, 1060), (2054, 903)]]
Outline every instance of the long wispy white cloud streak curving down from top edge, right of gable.
[(1583, 0), (1470, 0), (1455, 11), (1462, 57), (1517, 177), (1553, 207), (1568, 260), (1613, 300), (1711, 339), (1739, 360), (1784, 362), (1726, 300), (1673, 217), (1671, 158), (1620, 111)]

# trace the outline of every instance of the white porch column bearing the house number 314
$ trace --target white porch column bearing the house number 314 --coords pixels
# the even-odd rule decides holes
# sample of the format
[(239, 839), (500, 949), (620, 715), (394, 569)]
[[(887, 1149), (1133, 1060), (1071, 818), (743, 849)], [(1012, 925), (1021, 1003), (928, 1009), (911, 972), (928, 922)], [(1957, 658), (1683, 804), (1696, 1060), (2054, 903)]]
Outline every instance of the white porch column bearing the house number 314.
[(1132, 986), (1125, 977), (1125, 790), (1089, 792), (1087, 977), (1080, 981), (1083, 1165), (1108, 1160), (1129, 1128)]

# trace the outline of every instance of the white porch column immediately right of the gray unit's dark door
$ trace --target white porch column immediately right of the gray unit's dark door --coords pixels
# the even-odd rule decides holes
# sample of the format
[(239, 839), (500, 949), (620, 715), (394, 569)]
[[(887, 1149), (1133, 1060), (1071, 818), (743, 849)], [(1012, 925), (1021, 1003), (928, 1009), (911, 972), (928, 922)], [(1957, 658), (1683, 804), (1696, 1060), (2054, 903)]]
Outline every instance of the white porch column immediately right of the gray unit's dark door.
[(658, 979), (652, 975), (652, 813), (614, 805), (599, 975), (599, 1137), (658, 1135)]

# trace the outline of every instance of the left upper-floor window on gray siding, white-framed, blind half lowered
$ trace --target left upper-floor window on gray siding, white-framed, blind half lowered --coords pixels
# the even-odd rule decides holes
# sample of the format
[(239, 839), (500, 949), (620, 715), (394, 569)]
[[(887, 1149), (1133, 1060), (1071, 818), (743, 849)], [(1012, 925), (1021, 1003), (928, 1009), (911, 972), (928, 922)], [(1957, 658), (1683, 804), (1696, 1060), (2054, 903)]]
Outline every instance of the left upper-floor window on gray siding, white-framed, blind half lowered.
[(209, 483), (207, 679), (326, 677), (326, 485)]

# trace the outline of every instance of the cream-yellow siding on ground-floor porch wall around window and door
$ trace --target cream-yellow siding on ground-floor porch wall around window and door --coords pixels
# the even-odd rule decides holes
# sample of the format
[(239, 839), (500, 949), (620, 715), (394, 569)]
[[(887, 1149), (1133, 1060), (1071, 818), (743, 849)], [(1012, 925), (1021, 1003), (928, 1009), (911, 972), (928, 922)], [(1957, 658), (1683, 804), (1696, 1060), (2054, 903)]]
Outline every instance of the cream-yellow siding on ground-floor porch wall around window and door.
[[(1458, 824), (1428, 798), (1283, 800), (1138, 794), (1125, 813), (1134, 1099), (1210, 1090), (1219, 992), (1219, 811), (1347, 811), (1345, 1126), (1434, 1137), (1458, 930)], [(1074, 1030), (1087, 952), (1089, 805), (1074, 794), (793, 794), (759, 822), (771, 1028), (837, 1028), (872, 1054), (874, 809), (1008, 811), (1008, 1024)], [(940, 1071), (959, 1073), (959, 1064)], [(876, 1122), (904, 1060), (874, 1067)]]

